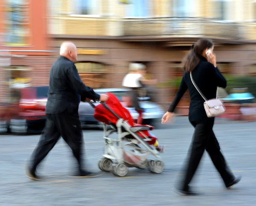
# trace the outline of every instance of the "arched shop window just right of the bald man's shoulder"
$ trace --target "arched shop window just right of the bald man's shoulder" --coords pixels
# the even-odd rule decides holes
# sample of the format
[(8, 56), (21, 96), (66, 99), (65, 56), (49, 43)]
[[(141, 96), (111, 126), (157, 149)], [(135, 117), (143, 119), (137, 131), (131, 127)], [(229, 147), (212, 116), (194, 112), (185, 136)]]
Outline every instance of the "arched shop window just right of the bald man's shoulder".
[(76, 69), (81, 80), (88, 87), (103, 88), (108, 81), (105, 78), (106, 65), (99, 62), (77, 62)]

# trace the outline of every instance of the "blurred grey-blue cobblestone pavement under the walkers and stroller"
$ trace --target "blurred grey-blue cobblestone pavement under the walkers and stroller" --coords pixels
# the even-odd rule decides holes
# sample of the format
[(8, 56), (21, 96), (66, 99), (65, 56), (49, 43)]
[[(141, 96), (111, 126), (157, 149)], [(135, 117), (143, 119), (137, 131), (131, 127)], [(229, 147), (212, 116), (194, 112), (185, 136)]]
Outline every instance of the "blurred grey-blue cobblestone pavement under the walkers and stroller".
[[(256, 123), (216, 121), (214, 131), (222, 151), (241, 182), (231, 190), (224, 188), (207, 153), (193, 179), (194, 189), (201, 193), (184, 197), (172, 191), (172, 186), (185, 160), (193, 128), (187, 118), (177, 118), (173, 125), (153, 131), (166, 145), (162, 155), (166, 170), (151, 174), (129, 168), (127, 177), (104, 173), (96, 178), (69, 177), (75, 161), (61, 139), (38, 168), (44, 180), (32, 181), (25, 176), (25, 164), (38, 142), (38, 135), (0, 135), (0, 205), (26, 206), (119, 206), (119, 205), (184, 205), (226, 206), (256, 205)], [(86, 164), (99, 171), (97, 162), (103, 153), (102, 131), (84, 131)]]

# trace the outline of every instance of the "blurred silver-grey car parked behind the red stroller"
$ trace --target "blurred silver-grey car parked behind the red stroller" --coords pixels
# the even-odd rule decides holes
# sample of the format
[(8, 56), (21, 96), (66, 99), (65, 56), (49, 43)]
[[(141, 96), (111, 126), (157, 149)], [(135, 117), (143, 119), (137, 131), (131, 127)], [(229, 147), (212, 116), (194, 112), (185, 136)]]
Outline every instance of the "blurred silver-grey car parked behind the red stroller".
[[(138, 113), (132, 107), (126, 107), (125, 97), (129, 89), (116, 89), (116, 88), (108, 88), (108, 89), (95, 89), (94, 90), (98, 94), (102, 93), (113, 93), (119, 101), (123, 104), (123, 106), (129, 110), (133, 119), (138, 118)], [(95, 105), (99, 104), (99, 102), (94, 103)], [(165, 111), (163, 108), (154, 102), (150, 102), (149, 97), (140, 98), (140, 105), (144, 109), (143, 113), (143, 124), (148, 124), (152, 126), (156, 126), (155, 122), (160, 122)], [(82, 126), (86, 125), (102, 125), (101, 122), (98, 122), (93, 117), (94, 109), (87, 102), (81, 102), (79, 105), (79, 118)]]

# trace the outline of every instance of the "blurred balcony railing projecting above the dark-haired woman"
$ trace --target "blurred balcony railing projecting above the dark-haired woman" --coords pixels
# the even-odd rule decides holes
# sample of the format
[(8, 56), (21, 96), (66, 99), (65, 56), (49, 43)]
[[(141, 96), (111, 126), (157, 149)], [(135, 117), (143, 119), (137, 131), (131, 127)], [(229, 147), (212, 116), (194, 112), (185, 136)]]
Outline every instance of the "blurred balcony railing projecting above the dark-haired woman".
[(123, 20), (123, 36), (173, 36), (243, 39), (239, 23), (209, 18), (150, 18)]

